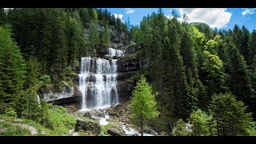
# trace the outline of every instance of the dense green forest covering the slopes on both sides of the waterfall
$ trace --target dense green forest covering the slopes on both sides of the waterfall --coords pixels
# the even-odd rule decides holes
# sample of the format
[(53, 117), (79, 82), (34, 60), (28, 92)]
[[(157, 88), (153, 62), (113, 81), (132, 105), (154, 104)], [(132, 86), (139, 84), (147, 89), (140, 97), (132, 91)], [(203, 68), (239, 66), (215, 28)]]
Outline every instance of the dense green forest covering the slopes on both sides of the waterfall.
[[(74, 67), (82, 57), (96, 57), (98, 49), (110, 46), (111, 29), (117, 37), (125, 35), (133, 47), (128, 54), (142, 60), (130, 81), (144, 75), (143, 82), (150, 84), (138, 82), (138, 87), (155, 95), (152, 110), (159, 114), (146, 120), (148, 126), (178, 136), (255, 135), (256, 31), (237, 25), (213, 30), (182, 18), (178, 21), (175, 13), (166, 18), (159, 9), (130, 26), (102, 9), (0, 9), (0, 114), (55, 130), (49, 134), (67, 134), (74, 116), (43, 98), (38, 104), (38, 94), (72, 86)], [(98, 26), (104, 27), (101, 33)], [(144, 102), (138, 96), (143, 93), (133, 94), (138, 100), (132, 102)], [(151, 94), (144, 98), (154, 99)], [(131, 106), (136, 111), (137, 105)]]

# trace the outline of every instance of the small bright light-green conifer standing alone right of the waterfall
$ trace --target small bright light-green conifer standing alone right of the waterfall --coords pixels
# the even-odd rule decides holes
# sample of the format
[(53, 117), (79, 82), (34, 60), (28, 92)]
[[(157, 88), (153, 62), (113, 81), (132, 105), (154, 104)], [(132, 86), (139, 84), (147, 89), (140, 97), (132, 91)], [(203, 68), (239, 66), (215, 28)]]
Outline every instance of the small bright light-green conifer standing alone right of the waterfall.
[(146, 121), (157, 118), (158, 110), (156, 109), (154, 94), (152, 94), (152, 88), (146, 78), (142, 76), (137, 82), (132, 99), (130, 103), (130, 109), (132, 113), (132, 122), (135, 125), (141, 126), (141, 133), (143, 135), (143, 126)]

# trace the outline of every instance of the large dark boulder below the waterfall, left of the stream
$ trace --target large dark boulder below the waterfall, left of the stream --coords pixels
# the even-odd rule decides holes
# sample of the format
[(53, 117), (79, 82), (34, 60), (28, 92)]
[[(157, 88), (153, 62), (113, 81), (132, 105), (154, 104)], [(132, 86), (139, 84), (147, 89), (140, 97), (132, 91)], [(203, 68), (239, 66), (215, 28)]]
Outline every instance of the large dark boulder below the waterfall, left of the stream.
[(98, 122), (95, 122), (93, 120), (83, 120), (81, 118), (77, 119), (77, 123), (75, 124), (74, 127), (75, 131), (79, 131), (79, 130), (89, 130), (89, 131), (93, 131), (96, 134), (100, 133), (101, 127), (99, 125)]

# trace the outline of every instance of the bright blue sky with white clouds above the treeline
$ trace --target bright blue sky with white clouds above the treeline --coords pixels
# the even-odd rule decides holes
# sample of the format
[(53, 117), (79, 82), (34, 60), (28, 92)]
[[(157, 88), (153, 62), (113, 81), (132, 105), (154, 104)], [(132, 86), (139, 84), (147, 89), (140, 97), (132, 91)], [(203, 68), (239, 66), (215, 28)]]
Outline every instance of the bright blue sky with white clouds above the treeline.
[[(132, 25), (139, 25), (143, 16), (157, 12), (156, 8), (107, 8), (111, 14), (122, 19), (130, 18)], [(173, 8), (163, 8), (167, 18), (171, 18)], [(248, 8), (175, 8), (178, 14), (187, 14), (189, 22), (206, 22), (210, 27), (218, 29), (233, 29), (234, 24), (246, 26), (250, 32), (256, 30), (256, 9)], [(119, 15), (118, 15), (119, 14)], [(180, 18), (182, 19), (182, 18)]]

